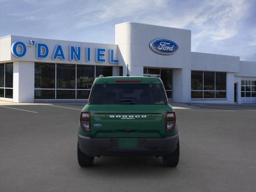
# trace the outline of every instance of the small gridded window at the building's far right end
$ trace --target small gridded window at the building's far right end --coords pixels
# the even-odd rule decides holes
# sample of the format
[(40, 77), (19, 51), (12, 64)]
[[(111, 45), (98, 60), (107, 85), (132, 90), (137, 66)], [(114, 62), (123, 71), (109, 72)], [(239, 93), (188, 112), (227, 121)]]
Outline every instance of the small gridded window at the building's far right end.
[(256, 81), (241, 81), (241, 97), (256, 97)]

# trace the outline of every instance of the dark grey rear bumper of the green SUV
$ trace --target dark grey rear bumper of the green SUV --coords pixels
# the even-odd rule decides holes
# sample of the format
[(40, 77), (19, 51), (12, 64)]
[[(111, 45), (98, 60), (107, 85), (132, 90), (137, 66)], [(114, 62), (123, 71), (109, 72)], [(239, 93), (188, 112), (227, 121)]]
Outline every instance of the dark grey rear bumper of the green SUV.
[(80, 150), (87, 156), (170, 156), (177, 148), (178, 134), (165, 138), (137, 138), (137, 148), (119, 148), (118, 138), (78, 135)]

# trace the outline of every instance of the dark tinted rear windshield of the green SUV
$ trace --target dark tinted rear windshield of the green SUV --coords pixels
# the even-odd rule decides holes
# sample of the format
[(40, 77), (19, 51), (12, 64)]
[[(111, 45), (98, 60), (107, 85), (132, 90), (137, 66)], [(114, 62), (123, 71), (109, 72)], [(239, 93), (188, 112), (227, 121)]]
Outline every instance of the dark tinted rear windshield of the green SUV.
[(90, 104), (166, 104), (162, 84), (95, 84)]

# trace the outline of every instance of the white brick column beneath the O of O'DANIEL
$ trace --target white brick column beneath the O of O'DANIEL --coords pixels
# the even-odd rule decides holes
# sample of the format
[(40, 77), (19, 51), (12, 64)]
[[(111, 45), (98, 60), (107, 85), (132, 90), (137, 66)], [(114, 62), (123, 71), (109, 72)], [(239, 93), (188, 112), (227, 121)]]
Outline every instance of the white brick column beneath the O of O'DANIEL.
[(13, 102), (34, 102), (34, 62), (13, 62)]

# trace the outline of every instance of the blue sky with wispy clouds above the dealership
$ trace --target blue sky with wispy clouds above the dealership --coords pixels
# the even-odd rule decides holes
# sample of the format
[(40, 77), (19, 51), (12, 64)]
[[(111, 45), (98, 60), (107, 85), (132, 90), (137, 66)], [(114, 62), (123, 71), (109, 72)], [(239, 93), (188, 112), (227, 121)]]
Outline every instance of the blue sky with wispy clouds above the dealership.
[(0, 0), (7, 35), (115, 43), (115, 24), (191, 30), (191, 50), (256, 62), (256, 0)]

